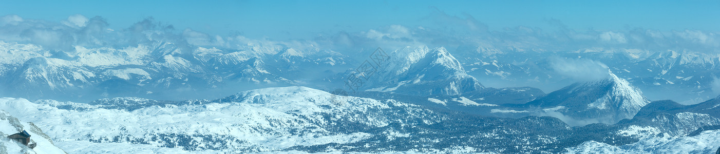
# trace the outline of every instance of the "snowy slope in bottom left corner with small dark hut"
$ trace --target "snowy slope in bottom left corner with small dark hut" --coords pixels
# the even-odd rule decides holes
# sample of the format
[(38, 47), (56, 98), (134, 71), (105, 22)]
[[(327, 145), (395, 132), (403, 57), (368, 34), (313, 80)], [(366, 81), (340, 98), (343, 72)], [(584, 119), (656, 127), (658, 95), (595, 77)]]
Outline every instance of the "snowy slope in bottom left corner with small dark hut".
[[(37, 144), (35, 148), (10, 140), (6, 136), (26, 131), (30, 135), (30, 144)], [(53, 144), (48, 135), (30, 122), (22, 122), (12, 117), (8, 112), (0, 110), (0, 153), (65, 153)]]

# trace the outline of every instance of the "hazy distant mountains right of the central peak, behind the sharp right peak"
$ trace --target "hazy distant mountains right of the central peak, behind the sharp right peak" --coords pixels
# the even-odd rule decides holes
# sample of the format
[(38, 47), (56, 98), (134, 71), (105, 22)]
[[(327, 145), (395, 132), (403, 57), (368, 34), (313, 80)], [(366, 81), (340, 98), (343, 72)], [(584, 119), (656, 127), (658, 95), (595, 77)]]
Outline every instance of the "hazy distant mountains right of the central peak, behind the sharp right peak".
[(720, 55), (691, 50), (588, 47), (552, 51), (460, 46), (452, 51), (467, 73), (485, 86), (559, 89), (562, 87), (554, 85), (570, 81), (549, 65), (553, 63), (552, 58), (585, 59), (604, 63), (616, 76), (642, 89), (649, 98), (676, 99), (681, 104), (696, 104), (716, 96), (710, 85), (720, 71)]

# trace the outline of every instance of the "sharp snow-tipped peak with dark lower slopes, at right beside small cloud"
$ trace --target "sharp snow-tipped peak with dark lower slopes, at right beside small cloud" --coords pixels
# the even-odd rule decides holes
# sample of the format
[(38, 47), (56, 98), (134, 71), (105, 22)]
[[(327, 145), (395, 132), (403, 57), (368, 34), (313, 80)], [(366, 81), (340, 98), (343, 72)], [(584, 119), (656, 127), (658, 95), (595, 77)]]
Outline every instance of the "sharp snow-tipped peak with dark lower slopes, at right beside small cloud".
[(614, 124), (621, 119), (631, 119), (648, 103), (642, 91), (610, 72), (605, 79), (574, 83), (524, 106), (561, 113), (573, 120), (592, 119)]

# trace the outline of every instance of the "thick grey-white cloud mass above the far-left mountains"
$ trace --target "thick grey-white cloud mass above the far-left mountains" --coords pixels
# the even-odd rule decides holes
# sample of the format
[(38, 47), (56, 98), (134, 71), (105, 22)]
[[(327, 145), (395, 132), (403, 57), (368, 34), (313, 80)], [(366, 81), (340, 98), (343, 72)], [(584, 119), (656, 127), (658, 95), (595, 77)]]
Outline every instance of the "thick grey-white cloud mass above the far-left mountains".
[(80, 14), (72, 15), (60, 22), (6, 15), (0, 17), (0, 40), (40, 45), (50, 50), (72, 51), (75, 45), (127, 46), (148, 40), (175, 42), (182, 39), (171, 32), (171, 26), (163, 26), (152, 19), (145, 19), (141, 23), (154, 28), (132, 30), (130, 27), (113, 31), (107, 27), (109, 24), (102, 17), (87, 18)]

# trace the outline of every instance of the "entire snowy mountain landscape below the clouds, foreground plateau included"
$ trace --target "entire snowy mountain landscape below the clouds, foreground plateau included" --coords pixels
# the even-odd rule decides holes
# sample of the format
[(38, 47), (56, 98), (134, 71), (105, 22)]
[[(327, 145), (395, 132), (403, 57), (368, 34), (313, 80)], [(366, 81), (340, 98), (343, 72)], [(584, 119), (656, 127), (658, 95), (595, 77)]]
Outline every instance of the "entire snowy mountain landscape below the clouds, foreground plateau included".
[[(714, 153), (720, 55), (0, 42), (0, 153)], [(551, 60), (549, 57), (554, 57)], [(559, 57), (559, 58), (557, 58)], [(557, 61), (606, 63), (583, 81)], [(361, 69), (373, 64), (371, 71)], [(348, 88), (348, 76), (362, 84)], [(498, 87), (498, 82), (518, 87)], [(561, 85), (554, 91), (530, 86)], [(567, 86), (565, 86), (567, 85)], [(564, 87), (562, 87), (564, 86)], [(651, 100), (672, 91), (679, 100)], [(546, 93), (548, 92), (548, 93)], [(661, 93), (662, 94), (662, 93)]]

